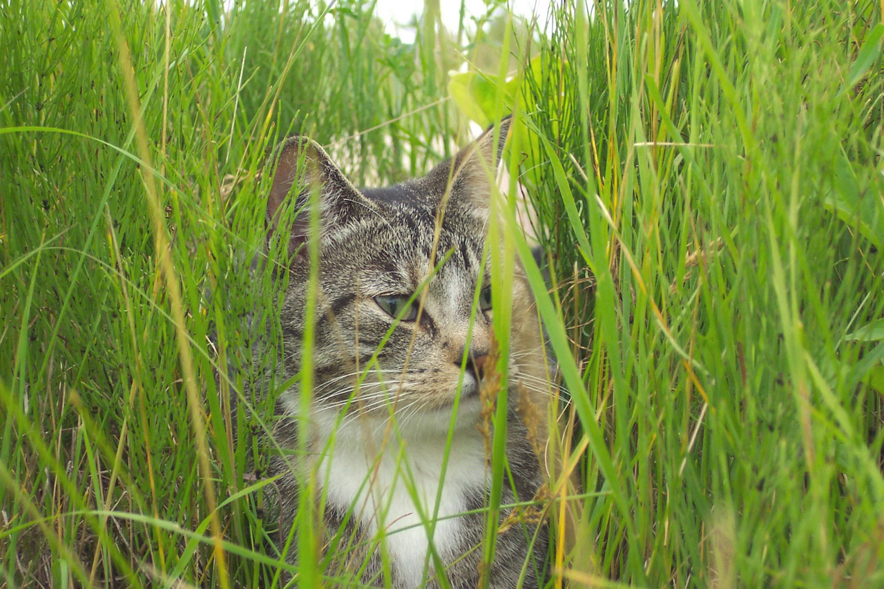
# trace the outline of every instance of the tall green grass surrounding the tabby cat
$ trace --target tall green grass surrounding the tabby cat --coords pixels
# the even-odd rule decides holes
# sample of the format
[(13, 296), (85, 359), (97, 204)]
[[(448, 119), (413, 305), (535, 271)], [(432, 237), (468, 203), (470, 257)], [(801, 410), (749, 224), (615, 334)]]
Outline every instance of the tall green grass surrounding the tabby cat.
[(568, 3), (500, 45), (372, 10), (0, 2), (0, 585), (277, 578), (213, 376), (264, 368), (263, 158), (424, 172), (507, 44), (469, 96), (516, 111), (552, 283), (525, 259), (582, 487), (550, 585), (884, 584), (884, 5)]

